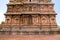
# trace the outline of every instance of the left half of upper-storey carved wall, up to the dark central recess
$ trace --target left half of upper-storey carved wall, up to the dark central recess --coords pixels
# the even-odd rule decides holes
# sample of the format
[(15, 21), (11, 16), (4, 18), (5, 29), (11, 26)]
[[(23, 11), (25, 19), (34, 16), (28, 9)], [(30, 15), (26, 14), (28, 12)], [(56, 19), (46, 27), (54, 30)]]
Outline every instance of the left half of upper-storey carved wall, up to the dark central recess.
[(28, 11), (28, 7), (23, 7), (21, 5), (9, 5), (7, 12), (21, 12)]

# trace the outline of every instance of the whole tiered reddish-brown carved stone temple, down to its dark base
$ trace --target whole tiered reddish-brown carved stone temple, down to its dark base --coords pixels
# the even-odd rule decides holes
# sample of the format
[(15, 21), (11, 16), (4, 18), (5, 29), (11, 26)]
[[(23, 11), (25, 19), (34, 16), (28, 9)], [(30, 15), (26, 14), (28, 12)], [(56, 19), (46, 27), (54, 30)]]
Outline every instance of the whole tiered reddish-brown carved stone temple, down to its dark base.
[(52, 0), (10, 0), (0, 35), (60, 34)]

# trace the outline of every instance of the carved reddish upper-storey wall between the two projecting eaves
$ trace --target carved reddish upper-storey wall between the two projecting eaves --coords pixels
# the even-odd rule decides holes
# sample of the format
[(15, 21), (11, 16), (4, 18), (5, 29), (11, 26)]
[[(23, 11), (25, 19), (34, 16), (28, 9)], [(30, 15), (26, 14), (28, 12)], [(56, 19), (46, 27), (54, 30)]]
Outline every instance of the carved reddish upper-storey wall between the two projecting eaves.
[[(22, 4), (23, 5), (23, 4)], [(40, 12), (54, 12), (54, 5), (8, 5), (7, 12), (28, 12), (30, 9), (32, 11), (40, 11)]]

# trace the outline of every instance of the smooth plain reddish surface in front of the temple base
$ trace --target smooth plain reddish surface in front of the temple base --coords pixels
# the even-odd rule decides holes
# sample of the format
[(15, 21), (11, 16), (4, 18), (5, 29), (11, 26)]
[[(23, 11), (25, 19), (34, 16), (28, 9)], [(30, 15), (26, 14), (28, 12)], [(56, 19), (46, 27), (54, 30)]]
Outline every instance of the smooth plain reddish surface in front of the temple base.
[(60, 40), (60, 35), (0, 36), (0, 40)]

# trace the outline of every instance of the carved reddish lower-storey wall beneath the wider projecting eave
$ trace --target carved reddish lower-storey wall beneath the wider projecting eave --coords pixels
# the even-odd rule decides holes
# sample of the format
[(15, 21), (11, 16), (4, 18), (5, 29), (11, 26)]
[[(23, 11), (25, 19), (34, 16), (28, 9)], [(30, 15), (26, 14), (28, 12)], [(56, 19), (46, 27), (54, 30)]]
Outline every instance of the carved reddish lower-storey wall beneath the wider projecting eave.
[(30, 18), (28, 16), (29, 15), (6, 16), (6, 23), (28, 25), (30, 21), (32, 25), (43, 25), (46, 27), (56, 25), (55, 16), (53, 15), (32, 15)]

